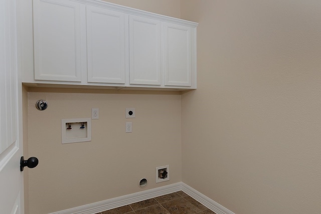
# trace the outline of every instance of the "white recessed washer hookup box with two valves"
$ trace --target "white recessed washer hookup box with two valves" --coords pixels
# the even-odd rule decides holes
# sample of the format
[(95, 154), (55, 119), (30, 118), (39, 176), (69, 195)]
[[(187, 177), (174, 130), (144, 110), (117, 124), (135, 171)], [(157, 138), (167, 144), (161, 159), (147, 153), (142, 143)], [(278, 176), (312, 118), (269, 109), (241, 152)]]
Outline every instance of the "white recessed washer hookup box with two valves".
[(91, 118), (61, 120), (61, 143), (88, 141), (91, 141)]

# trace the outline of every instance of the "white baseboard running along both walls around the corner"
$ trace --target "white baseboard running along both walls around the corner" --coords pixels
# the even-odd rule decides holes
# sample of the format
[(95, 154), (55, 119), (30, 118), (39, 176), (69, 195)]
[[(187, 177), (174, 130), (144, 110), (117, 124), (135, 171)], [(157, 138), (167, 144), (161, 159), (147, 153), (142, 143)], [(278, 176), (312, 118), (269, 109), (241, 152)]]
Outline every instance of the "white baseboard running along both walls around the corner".
[(83, 206), (78, 206), (70, 209), (61, 210), (58, 212), (52, 212), (49, 214), (94, 214), (97, 212), (105, 211), (108, 209), (113, 209), (116, 207), (128, 205), (138, 201), (146, 200), (153, 197), (162, 196), (177, 191), (184, 191), (203, 205), (207, 206), (209, 209), (213, 210), (217, 214), (235, 214), (234, 212), (228, 210), (221, 204), (215, 202), (204, 194), (193, 189), (189, 185), (178, 182), (170, 184), (167, 186), (157, 187), (145, 191), (140, 191), (132, 194), (127, 194), (120, 197), (115, 197), (95, 203), (90, 203)]

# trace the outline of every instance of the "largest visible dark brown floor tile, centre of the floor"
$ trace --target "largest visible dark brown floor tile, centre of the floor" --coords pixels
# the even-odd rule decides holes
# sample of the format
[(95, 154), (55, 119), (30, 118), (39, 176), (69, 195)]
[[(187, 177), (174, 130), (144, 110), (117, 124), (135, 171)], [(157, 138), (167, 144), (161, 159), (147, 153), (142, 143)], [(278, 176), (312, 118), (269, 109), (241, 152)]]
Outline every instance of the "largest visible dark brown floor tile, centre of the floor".
[(181, 214), (181, 213), (194, 214), (196, 212), (202, 211), (201, 209), (197, 208), (191, 202), (187, 201), (183, 197), (164, 202), (162, 203), (162, 205), (171, 214)]

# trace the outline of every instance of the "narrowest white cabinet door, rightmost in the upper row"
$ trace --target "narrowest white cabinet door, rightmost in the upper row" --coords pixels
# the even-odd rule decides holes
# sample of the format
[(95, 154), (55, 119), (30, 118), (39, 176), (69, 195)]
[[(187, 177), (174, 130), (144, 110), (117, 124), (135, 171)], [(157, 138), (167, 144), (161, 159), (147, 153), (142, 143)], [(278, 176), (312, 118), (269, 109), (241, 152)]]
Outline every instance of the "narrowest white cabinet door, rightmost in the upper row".
[(192, 86), (191, 28), (165, 23), (165, 85)]

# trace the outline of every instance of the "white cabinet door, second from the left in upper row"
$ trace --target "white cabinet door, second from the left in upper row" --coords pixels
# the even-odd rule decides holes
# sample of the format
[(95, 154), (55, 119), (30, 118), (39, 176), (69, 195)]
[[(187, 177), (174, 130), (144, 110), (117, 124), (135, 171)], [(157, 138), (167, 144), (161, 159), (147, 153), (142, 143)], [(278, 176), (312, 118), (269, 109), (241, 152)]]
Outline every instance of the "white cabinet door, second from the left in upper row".
[(86, 13), (88, 82), (124, 84), (124, 13), (92, 6)]

